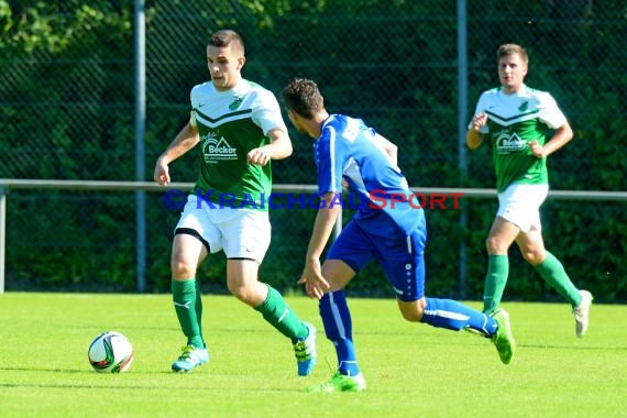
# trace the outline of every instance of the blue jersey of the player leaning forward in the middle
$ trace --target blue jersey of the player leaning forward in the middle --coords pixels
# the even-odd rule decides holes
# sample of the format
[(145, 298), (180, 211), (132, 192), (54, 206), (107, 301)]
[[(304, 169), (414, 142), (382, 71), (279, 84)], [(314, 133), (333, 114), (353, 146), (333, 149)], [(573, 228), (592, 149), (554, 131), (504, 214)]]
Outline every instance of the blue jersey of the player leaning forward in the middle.
[[(424, 228), (420, 202), (413, 197), (405, 176), (361, 119), (331, 114), (314, 144), (318, 191), (342, 191), (350, 186), (351, 201), (359, 196), (353, 220), (365, 231), (382, 237)], [(351, 207), (354, 207), (351, 202)], [(400, 230), (400, 231), (399, 231)]]

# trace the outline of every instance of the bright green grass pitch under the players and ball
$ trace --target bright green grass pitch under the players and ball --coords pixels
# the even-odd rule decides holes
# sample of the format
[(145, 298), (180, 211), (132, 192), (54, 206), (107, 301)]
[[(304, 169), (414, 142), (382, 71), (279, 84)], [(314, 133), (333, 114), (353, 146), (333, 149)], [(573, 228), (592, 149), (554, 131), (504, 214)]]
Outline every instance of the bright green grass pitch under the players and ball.
[[(319, 365), (296, 376), (292, 346), (253, 309), (205, 296), (209, 364), (169, 372), (184, 338), (169, 295), (0, 295), (2, 417), (618, 417), (627, 416), (627, 306), (594, 305), (583, 339), (565, 304), (504, 304), (518, 351), (402, 319), (394, 300), (350, 298), (367, 391), (311, 394), (336, 364), (317, 302), (288, 297), (318, 327)], [(479, 307), (476, 302), (470, 302)], [(125, 374), (98, 374), (103, 330), (132, 341)]]

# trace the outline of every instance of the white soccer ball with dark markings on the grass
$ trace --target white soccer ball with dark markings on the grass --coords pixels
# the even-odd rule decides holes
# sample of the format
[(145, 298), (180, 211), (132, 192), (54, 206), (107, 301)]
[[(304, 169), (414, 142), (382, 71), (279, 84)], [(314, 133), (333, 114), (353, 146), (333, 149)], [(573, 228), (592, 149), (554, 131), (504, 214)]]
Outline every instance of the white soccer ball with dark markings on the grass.
[(107, 331), (91, 341), (87, 355), (96, 372), (128, 372), (133, 363), (133, 345), (120, 332)]

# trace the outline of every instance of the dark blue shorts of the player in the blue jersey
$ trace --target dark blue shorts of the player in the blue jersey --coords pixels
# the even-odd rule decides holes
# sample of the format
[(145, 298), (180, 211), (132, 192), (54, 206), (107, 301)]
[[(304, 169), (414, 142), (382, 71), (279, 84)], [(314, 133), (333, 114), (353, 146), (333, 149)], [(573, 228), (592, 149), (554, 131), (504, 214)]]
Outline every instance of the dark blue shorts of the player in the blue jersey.
[(327, 260), (341, 260), (359, 272), (370, 261), (377, 260), (396, 297), (414, 301), (425, 296), (426, 229), (409, 235), (395, 237), (367, 233), (355, 221), (349, 222), (331, 245)]

